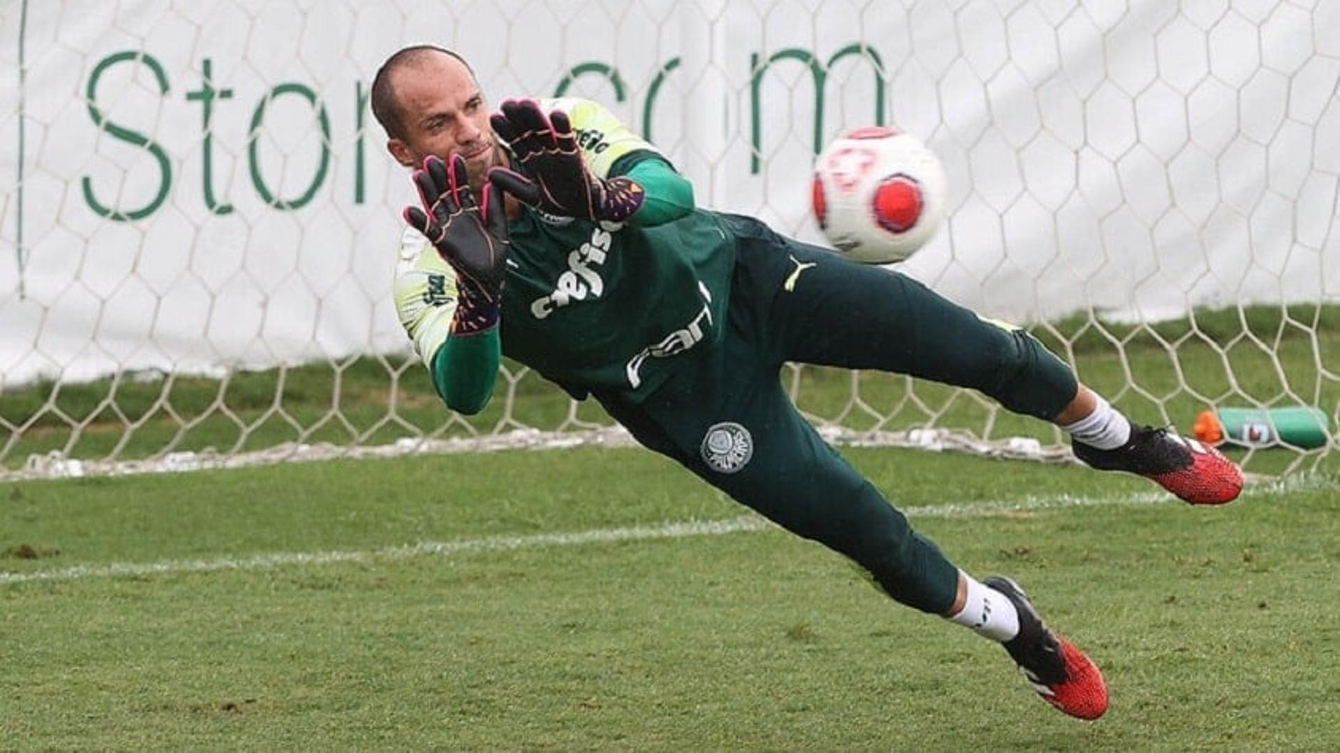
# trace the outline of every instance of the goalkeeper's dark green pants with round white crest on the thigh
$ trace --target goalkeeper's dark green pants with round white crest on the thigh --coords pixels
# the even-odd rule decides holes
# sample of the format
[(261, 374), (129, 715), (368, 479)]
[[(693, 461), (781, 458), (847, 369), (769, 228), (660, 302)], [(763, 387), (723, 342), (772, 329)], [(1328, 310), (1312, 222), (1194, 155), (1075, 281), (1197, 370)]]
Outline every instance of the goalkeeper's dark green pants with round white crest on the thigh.
[(1073, 399), (1073, 374), (1026, 334), (989, 324), (903, 275), (784, 238), (754, 220), (729, 224), (740, 241), (724, 340), (682, 354), (686, 363), (642, 403), (596, 398), (647, 448), (847, 555), (894, 599), (945, 612), (957, 568), (800, 415), (781, 366), (911, 374), (974, 387), (1047, 419)]

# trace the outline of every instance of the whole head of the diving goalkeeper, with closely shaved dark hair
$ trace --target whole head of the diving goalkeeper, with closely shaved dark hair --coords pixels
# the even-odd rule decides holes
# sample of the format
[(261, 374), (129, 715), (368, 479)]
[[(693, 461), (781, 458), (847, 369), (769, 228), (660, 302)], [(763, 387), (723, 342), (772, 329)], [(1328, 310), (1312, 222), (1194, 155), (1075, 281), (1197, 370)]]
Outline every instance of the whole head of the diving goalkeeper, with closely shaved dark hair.
[(450, 50), (417, 44), (391, 55), (373, 79), (371, 99), (386, 150), (406, 167), (430, 154), (450, 161), (454, 151), (478, 192), (489, 167), (507, 166), (474, 71)]

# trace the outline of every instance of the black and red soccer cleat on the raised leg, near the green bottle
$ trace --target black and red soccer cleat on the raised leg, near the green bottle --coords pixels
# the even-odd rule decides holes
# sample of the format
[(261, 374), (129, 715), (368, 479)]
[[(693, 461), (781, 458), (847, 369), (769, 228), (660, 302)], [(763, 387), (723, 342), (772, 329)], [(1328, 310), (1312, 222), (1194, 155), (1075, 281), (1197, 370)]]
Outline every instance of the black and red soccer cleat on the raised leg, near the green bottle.
[(1131, 438), (1115, 450), (1072, 442), (1075, 457), (1099, 470), (1126, 470), (1151, 478), (1182, 501), (1222, 505), (1242, 492), (1242, 470), (1219, 450), (1167, 429), (1131, 426)]

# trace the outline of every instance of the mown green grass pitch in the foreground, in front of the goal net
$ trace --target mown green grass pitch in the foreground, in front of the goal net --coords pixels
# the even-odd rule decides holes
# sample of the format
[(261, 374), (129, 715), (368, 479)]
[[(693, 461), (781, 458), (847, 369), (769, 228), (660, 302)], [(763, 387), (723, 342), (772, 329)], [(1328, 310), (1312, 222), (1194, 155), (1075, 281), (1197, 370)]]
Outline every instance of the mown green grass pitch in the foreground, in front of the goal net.
[[(59, 576), (0, 577), (0, 741), (1321, 750), (1340, 738), (1340, 474), (1197, 509), (1072, 466), (847, 454), (959, 565), (1030, 590), (1103, 666), (1103, 720), (1063, 717), (1000, 648), (776, 529), (394, 549), (742, 513), (650, 453), (575, 449), (0, 484), (0, 573)], [(945, 505), (961, 512), (931, 515)], [(222, 567), (319, 552), (362, 556)], [(127, 563), (162, 567), (107, 575)]]

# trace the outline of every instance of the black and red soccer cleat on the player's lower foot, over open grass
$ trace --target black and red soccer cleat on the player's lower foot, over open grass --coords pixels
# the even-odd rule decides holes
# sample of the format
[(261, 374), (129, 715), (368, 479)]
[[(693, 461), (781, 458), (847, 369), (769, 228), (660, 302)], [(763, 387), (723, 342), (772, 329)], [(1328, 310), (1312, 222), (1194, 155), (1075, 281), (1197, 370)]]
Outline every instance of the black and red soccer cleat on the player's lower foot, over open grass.
[(998, 575), (982, 583), (1000, 591), (1018, 611), (1018, 635), (1002, 646), (1043, 701), (1079, 720), (1101, 717), (1107, 711), (1107, 682), (1097, 665), (1043, 623), (1017, 583)]

